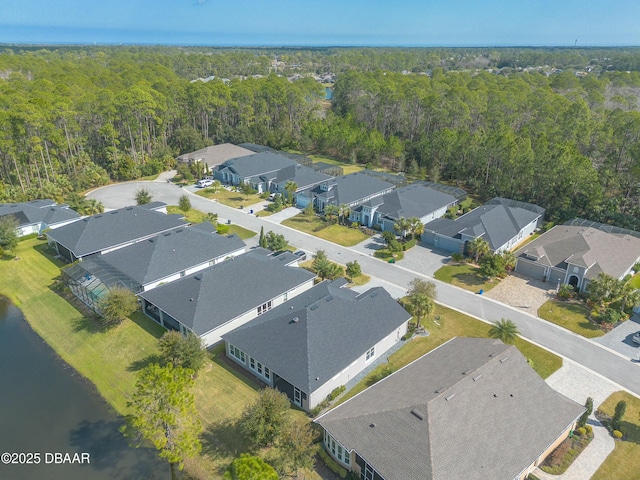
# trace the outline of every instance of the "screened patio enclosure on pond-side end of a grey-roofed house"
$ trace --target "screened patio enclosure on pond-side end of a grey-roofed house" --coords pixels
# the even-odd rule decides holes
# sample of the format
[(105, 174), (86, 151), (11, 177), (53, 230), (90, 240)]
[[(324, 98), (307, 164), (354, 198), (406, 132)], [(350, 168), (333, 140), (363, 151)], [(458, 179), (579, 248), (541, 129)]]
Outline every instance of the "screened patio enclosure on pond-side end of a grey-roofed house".
[(134, 294), (143, 290), (142, 285), (109, 265), (99, 255), (64, 267), (61, 272), (62, 280), (73, 294), (96, 313), (99, 313), (98, 301), (113, 287), (124, 287)]

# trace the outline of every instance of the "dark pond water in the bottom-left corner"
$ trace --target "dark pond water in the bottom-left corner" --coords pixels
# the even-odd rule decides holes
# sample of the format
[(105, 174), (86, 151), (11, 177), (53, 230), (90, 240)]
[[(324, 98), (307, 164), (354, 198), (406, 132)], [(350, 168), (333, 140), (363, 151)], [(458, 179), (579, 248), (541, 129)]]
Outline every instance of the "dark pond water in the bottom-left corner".
[(171, 478), (154, 450), (127, 444), (122, 419), (1, 297), (0, 378), (1, 479)]

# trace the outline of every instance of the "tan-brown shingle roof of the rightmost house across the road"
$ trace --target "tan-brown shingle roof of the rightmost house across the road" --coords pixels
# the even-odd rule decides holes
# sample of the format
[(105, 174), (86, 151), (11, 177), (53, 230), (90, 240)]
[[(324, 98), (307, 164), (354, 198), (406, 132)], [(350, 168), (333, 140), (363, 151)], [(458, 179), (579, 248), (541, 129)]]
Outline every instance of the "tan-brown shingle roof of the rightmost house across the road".
[(515, 252), (516, 257), (527, 254), (545, 266), (566, 270), (568, 261), (589, 268), (590, 279), (600, 272), (620, 278), (640, 257), (640, 239), (597, 228), (556, 225)]

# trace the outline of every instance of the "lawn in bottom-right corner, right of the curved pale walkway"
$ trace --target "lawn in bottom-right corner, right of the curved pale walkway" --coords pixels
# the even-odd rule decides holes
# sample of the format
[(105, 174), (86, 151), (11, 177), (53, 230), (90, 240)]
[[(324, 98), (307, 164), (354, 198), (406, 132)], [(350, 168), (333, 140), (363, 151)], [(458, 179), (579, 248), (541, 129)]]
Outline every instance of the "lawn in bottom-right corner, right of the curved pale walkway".
[(625, 436), (622, 440), (616, 440), (613, 452), (591, 477), (592, 480), (640, 479), (640, 399), (627, 392), (616, 392), (599, 409), (612, 416), (620, 400), (627, 402), (627, 410), (621, 422)]

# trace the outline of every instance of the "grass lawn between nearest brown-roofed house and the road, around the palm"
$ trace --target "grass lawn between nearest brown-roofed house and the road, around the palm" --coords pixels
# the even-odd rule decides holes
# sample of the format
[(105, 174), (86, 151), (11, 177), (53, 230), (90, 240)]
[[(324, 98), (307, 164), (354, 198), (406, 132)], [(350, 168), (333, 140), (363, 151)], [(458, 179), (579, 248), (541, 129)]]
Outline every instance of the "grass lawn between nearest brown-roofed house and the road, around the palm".
[[(398, 370), (405, 365), (420, 358), (427, 352), (453, 337), (488, 337), (489, 328), (485, 322), (476, 320), (463, 313), (451, 310), (442, 305), (436, 305), (433, 316), (422, 322), (429, 331), (428, 337), (414, 337), (389, 357), (389, 363), (393, 370)], [(562, 358), (553, 353), (538, 347), (522, 338), (516, 340), (515, 346), (520, 352), (532, 362), (533, 369), (542, 378), (547, 378), (553, 372), (562, 367)], [(367, 375), (346, 395), (340, 398), (339, 403), (360, 393), (371, 384), (371, 377), (387, 367), (386, 364), (378, 366), (373, 372)]]

